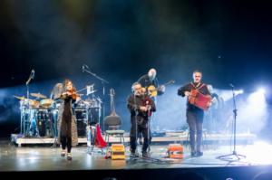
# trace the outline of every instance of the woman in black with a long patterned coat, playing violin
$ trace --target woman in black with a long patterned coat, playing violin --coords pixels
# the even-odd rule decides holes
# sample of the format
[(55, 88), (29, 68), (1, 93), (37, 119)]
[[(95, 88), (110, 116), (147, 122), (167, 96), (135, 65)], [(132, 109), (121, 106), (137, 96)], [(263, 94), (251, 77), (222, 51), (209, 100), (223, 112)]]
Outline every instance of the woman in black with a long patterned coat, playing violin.
[(62, 105), (60, 106), (58, 116), (58, 142), (62, 145), (61, 156), (67, 154), (67, 160), (72, 160), (72, 146), (76, 146), (78, 143), (73, 105), (80, 100), (80, 97), (76, 94), (72, 81), (65, 80), (63, 87), (64, 90), (60, 97)]

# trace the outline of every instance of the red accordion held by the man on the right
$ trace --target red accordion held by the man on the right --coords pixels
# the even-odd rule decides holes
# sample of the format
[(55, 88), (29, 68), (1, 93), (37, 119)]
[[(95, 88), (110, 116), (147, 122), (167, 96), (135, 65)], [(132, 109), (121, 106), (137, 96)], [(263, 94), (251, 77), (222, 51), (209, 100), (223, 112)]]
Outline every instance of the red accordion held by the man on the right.
[(208, 110), (211, 97), (200, 93), (199, 90), (191, 90), (188, 100), (191, 105), (194, 105), (199, 109)]

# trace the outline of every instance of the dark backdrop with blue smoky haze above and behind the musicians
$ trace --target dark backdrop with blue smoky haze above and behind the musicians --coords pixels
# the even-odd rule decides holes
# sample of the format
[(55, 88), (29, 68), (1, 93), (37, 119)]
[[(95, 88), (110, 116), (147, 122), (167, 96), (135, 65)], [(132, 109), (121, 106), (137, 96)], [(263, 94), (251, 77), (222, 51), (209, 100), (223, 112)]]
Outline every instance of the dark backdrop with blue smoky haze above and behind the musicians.
[[(110, 82), (107, 94), (115, 89), (116, 110), (126, 129), (131, 84), (151, 67), (157, 69), (160, 83), (176, 81), (167, 99), (180, 99), (177, 89), (196, 69), (219, 90), (230, 90), (229, 83), (248, 92), (260, 85), (269, 89), (271, 7), (265, 0), (2, 0), (0, 135), (9, 136), (19, 126), (13, 95), (25, 96), (31, 70), (31, 92), (48, 96), (55, 83), (69, 78), (77, 89), (94, 83), (102, 97), (101, 81), (82, 71), (87, 64)], [(104, 101), (107, 115), (109, 96)], [(167, 103), (162, 98), (159, 102)], [(179, 117), (183, 101), (175, 103), (167, 112)], [(184, 122), (183, 117), (169, 120), (172, 125)]]

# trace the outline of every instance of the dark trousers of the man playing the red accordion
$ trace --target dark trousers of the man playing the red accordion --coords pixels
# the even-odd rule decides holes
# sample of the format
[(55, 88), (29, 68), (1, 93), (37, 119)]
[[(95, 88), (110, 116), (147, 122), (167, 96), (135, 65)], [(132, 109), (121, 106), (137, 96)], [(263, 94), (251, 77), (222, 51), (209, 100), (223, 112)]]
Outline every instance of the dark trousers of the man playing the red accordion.
[(200, 152), (202, 143), (202, 126), (204, 112), (202, 110), (187, 110), (186, 118), (189, 125), (189, 144), (191, 147), (191, 152)]

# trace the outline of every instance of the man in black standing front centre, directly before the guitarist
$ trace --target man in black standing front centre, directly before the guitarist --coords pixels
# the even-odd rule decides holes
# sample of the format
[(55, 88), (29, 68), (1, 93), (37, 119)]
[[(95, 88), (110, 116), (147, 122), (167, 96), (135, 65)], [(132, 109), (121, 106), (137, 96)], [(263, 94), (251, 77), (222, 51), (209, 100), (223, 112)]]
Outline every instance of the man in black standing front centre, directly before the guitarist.
[(149, 118), (151, 112), (156, 111), (154, 101), (143, 93), (141, 84), (135, 82), (132, 85), (133, 94), (127, 99), (127, 107), (131, 111), (131, 156), (138, 156), (136, 153), (137, 137), (142, 133), (143, 146), (142, 156), (148, 157), (147, 149), (150, 142)]

